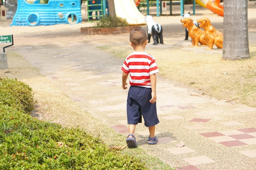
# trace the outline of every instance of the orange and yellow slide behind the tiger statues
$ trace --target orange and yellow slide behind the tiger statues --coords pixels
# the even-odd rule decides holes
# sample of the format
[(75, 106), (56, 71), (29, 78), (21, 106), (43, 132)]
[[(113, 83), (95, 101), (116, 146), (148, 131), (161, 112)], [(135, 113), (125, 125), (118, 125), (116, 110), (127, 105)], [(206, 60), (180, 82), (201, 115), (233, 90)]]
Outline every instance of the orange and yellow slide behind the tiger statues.
[(220, 0), (195, 0), (202, 7), (205, 7), (220, 16), (223, 16), (223, 6), (220, 5)]

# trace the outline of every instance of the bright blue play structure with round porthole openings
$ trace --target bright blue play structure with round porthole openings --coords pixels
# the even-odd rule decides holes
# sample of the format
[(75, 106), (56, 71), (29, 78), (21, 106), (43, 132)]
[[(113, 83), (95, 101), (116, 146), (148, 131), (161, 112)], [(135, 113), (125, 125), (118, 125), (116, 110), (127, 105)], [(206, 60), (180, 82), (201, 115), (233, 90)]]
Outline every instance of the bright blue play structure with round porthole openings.
[(80, 0), (49, 0), (33, 4), (18, 0), (17, 11), (10, 26), (37, 26), (54, 24), (77, 24), (82, 22)]

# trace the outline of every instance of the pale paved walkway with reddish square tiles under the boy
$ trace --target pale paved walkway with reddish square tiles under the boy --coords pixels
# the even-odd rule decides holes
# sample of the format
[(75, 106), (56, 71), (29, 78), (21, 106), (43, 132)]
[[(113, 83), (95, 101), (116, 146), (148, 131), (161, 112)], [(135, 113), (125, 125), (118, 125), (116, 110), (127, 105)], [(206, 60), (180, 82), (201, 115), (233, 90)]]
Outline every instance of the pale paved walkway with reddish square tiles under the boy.
[[(156, 20), (160, 22), (162, 19)], [(180, 19), (173, 16), (171, 20)], [(255, 20), (253, 22), (256, 23)], [(168, 26), (178, 28), (178, 24)], [(216, 21), (217, 24), (220, 22)], [(6, 51), (23, 55), (84, 110), (126, 136), (128, 91), (121, 88), (124, 61), (97, 46), (127, 46), (128, 34), (82, 35), (77, 29), (79, 26), (67, 26), (68, 30), (49, 29), (58, 28), (49, 26), (40, 33), (17, 33), (15, 45)], [(166, 24), (166, 28), (168, 26)], [(167, 49), (173, 44), (188, 49), (190, 42), (178, 37), (184, 36), (184, 29), (180, 31), (180, 28), (175, 29), (175, 35), (171, 35), (172, 30), (164, 32), (165, 47), (159, 45), (156, 50)], [(255, 32), (249, 35), (253, 37)], [(156, 126), (157, 145), (147, 144), (148, 129), (143, 124), (136, 127), (139, 148), (148, 154), (159, 157), (177, 170), (256, 169), (256, 108), (202, 96), (158, 76), (157, 111), (160, 120)], [(177, 145), (181, 141), (185, 145), (179, 148)]]

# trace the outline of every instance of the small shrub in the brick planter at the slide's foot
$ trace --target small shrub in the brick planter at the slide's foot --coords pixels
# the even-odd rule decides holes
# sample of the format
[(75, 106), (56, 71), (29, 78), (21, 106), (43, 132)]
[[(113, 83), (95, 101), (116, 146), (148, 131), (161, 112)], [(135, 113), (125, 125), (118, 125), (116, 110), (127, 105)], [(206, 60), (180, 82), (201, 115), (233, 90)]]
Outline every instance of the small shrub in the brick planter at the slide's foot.
[(96, 26), (94, 28), (113, 28), (113, 27), (121, 27), (121, 26), (129, 26), (125, 19), (118, 17), (105, 16), (99, 19), (96, 22)]

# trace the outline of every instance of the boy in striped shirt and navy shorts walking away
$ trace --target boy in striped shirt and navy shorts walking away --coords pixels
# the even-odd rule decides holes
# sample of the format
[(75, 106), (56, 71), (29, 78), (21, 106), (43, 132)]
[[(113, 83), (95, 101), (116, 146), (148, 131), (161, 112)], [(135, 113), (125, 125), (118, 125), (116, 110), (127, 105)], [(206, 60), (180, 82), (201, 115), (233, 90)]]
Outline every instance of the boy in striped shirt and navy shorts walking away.
[(143, 115), (145, 126), (148, 127), (148, 144), (157, 144), (155, 125), (159, 123), (156, 110), (156, 73), (159, 72), (155, 59), (146, 53), (148, 43), (146, 32), (143, 29), (134, 29), (130, 32), (130, 46), (135, 52), (128, 55), (121, 70), (122, 87), (127, 89), (127, 78), (130, 73), (130, 89), (127, 97), (127, 120), (129, 135), (126, 143), (129, 148), (136, 148), (134, 136), (135, 127), (141, 123)]

